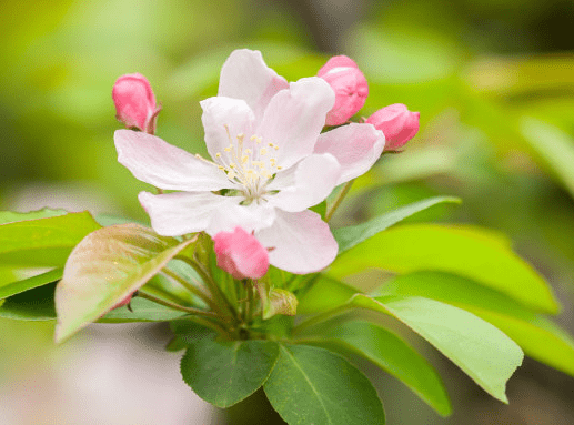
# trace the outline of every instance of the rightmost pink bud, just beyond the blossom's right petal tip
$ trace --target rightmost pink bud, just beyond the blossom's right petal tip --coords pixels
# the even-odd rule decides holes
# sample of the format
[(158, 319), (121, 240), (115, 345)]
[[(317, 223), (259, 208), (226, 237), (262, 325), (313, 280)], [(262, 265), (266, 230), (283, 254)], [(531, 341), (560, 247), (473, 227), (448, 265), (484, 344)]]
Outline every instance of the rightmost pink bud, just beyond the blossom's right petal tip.
[(395, 103), (380, 109), (366, 122), (384, 133), (385, 151), (396, 151), (419, 131), (420, 115), (419, 112), (409, 111), (404, 104)]

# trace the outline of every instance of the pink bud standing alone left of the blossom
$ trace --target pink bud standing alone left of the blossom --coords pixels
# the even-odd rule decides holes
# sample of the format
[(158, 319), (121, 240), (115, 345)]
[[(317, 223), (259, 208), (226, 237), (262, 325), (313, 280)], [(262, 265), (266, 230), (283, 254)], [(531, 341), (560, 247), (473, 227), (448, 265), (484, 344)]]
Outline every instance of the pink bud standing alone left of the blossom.
[(161, 108), (155, 104), (145, 77), (139, 73), (121, 75), (113, 84), (112, 98), (117, 118), (127, 128), (137, 128), (150, 134), (155, 132), (155, 120)]

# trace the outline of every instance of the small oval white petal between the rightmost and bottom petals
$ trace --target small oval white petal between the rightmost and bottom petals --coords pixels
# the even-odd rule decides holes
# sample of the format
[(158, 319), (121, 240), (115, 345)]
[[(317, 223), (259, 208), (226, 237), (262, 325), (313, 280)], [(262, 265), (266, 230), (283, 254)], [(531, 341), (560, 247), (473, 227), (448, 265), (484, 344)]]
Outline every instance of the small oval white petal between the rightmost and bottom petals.
[(323, 201), (333, 191), (341, 175), (341, 165), (329, 154), (312, 154), (284, 172), (276, 174), (269, 190), (279, 193), (269, 203), (283, 211), (306, 210)]

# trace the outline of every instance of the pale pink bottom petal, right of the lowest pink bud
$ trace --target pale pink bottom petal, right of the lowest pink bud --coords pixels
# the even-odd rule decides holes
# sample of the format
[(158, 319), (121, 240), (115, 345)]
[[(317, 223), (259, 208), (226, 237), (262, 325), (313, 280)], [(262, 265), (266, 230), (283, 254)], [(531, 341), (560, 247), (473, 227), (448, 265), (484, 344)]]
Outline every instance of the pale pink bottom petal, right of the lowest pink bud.
[(291, 273), (306, 274), (325, 269), (336, 257), (339, 246), (329, 224), (312, 211), (278, 211), (271, 227), (255, 232), (268, 249), (269, 262)]

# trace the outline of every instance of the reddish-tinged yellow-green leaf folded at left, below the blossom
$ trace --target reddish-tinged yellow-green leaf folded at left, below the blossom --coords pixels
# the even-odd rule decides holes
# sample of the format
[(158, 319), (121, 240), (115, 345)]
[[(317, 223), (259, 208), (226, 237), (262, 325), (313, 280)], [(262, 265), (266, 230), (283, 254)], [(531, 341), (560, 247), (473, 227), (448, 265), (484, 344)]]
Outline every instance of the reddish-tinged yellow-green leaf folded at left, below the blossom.
[(68, 259), (56, 290), (56, 341), (62, 342), (110, 311), (191, 242), (159, 236), (139, 224), (90, 233)]

